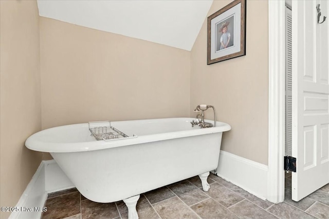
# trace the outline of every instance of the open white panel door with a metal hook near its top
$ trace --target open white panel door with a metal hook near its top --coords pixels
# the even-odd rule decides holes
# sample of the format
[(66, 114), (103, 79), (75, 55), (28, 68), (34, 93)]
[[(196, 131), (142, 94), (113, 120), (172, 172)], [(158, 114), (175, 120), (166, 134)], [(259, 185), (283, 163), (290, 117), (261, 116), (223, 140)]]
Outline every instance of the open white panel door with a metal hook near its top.
[[(297, 158), (292, 197), (299, 201), (329, 183), (328, 1), (293, 1), (293, 130)], [(321, 16), (321, 21), (323, 16)]]

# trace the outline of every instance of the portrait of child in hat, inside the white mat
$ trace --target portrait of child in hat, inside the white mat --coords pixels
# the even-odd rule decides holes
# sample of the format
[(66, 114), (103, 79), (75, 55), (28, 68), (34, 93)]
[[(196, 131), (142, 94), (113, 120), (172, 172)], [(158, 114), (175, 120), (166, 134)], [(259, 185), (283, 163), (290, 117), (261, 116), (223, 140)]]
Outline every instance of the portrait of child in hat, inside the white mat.
[[(232, 21), (230, 21), (230, 18)], [(234, 36), (232, 35), (234, 20), (233, 17), (225, 19), (225, 21), (217, 24), (217, 42), (216, 42), (216, 51), (220, 51), (226, 48), (233, 46)], [(218, 40), (219, 38), (219, 40)]]

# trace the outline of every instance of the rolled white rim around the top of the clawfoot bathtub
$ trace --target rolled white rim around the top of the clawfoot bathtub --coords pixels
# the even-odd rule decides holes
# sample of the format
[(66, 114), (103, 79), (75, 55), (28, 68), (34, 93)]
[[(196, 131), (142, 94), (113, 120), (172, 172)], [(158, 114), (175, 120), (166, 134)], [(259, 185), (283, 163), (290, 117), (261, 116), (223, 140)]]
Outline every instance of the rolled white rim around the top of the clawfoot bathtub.
[[(168, 119), (176, 119), (176, 120), (195, 120), (193, 117), (171, 117), (171, 118), (155, 118), (148, 120), (130, 120), (130, 121), (113, 121), (113, 122), (152, 122), (155, 120), (168, 120)], [(187, 121), (185, 121), (187, 122)], [(212, 123), (211, 120), (205, 120), (205, 122)], [(174, 138), (180, 137), (189, 137), (203, 134), (211, 134), (211, 133), (220, 133), (224, 131), (229, 131), (231, 126), (227, 123), (223, 123), (220, 121), (216, 121), (216, 127), (206, 128), (206, 129), (194, 129), (194, 130), (184, 130), (184, 131), (175, 131), (175, 132), (163, 132), (157, 134), (149, 134), (149, 135), (140, 135), (136, 138), (127, 138), (122, 140), (115, 141), (90, 141), (90, 142), (74, 142), (74, 143), (54, 143), (54, 142), (44, 142), (38, 140), (38, 136), (43, 134), (43, 132), (48, 132), (51, 129), (57, 129), (60, 127), (67, 126), (88, 126), (88, 123), (80, 123), (80, 124), (70, 124), (64, 126), (57, 126), (53, 128), (44, 129), (42, 131), (36, 132), (27, 138), (25, 142), (25, 146), (34, 151), (40, 152), (49, 152), (49, 153), (67, 153), (67, 152), (83, 152), (83, 151), (93, 151), (93, 150), (101, 150), (107, 148), (115, 148), (122, 147), (127, 145), (137, 145), (143, 143), (150, 143), (156, 141), (170, 140)], [(60, 146), (60, 147), (59, 147)], [(90, 146), (93, 146), (92, 148)]]

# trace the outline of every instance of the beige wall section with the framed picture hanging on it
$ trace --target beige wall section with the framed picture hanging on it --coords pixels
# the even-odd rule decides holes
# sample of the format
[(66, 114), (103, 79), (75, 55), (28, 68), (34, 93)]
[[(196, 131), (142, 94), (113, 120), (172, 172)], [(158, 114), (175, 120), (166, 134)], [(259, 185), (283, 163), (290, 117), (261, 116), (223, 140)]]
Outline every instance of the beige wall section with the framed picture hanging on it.
[[(214, 1), (208, 16), (230, 2)], [(267, 7), (267, 1), (247, 1), (246, 56), (207, 65), (207, 20), (191, 51), (191, 109), (197, 104), (214, 105), (217, 120), (232, 126), (223, 135), (222, 149), (265, 165), (268, 160)], [(206, 111), (210, 119), (211, 111)]]

